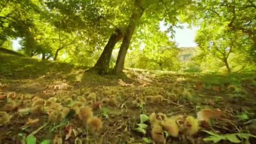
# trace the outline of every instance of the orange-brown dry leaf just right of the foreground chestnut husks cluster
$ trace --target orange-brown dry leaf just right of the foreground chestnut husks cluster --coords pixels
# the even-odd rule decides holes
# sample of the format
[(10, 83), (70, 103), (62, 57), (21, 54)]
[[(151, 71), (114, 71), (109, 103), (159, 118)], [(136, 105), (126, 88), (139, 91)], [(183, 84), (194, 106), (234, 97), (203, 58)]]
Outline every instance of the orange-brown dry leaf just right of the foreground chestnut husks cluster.
[(197, 112), (197, 119), (200, 121), (205, 120), (206, 122), (209, 122), (211, 118), (218, 118), (222, 115), (222, 113), (223, 112), (220, 109), (203, 109)]

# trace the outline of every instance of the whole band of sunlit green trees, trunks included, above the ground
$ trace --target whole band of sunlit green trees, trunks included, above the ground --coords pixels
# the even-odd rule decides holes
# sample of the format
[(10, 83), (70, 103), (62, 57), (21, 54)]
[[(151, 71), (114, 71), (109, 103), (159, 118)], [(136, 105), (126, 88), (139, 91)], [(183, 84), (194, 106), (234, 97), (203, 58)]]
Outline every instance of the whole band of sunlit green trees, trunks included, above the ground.
[[(181, 23), (200, 27), (198, 46), (186, 60), (173, 40)], [(169, 71), (197, 67), (199, 72), (216, 65), (214, 71), (253, 70), (255, 27), (253, 0), (0, 2), (1, 47), (12, 49), (11, 40), (20, 38), (18, 51), (27, 56), (91, 67), (99, 74), (119, 74), (124, 67)]]

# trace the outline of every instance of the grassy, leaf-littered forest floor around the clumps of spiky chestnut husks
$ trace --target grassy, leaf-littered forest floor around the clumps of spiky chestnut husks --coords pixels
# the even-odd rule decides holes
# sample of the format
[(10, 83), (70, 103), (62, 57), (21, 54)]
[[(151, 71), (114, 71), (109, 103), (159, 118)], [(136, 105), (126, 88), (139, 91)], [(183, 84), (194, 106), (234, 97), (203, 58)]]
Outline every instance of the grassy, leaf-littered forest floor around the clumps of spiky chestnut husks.
[[(252, 138), (256, 135), (256, 74), (180, 74), (125, 69), (120, 76), (99, 76), (66, 63), (0, 54), (0, 83), (0, 111), (8, 111), (11, 116), (7, 124), (0, 126), (0, 144), (19, 144), (31, 133), (37, 138), (37, 143), (60, 137), (64, 144), (80, 144), (79, 141), (83, 144), (145, 144), (151, 136), (148, 129), (145, 134), (136, 131), (140, 115), (162, 112), (168, 117), (197, 117), (197, 112), (202, 109), (219, 109), (223, 115), (211, 120), (211, 124), (201, 124), (192, 140), (168, 136), (167, 143), (212, 143), (203, 140), (211, 136), (203, 130), (214, 132), (210, 138), (215, 140), (226, 139), (224, 134), (250, 133), (244, 138), (251, 136), (252, 144), (256, 141)], [(66, 86), (56, 86), (63, 83)], [(234, 89), (230, 85), (235, 85)], [(189, 94), (184, 94), (184, 90)], [(93, 99), (87, 99), (90, 93), (96, 93), (96, 101), (110, 97), (115, 100), (101, 104), (100, 109)], [(161, 95), (164, 99), (148, 101), (145, 99), (147, 95)], [(56, 97), (63, 107), (72, 107), (72, 101), (82, 101), (93, 107), (93, 115), (102, 120), (103, 127), (94, 133), (71, 112), (60, 122), (48, 122), (49, 112), (24, 112), (32, 107), (32, 98), (35, 97), (45, 101)], [(67, 101), (68, 97), (72, 101)], [(142, 101), (136, 104), (138, 97)], [(27, 123), (29, 118), (35, 121)], [(68, 133), (71, 136), (65, 140)], [(239, 141), (245, 139), (238, 137)], [(231, 142), (227, 138), (219, 143)]]

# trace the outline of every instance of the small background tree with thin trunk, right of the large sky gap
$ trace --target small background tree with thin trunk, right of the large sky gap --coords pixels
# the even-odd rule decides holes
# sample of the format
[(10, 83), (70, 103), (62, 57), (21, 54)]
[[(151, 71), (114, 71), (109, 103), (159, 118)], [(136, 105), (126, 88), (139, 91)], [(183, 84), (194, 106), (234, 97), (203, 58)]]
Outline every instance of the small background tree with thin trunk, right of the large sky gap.
[[(238, 46), (237, 36), (230, 33), (226, 27), (214, 25), (202, 26), (197, 32), (195, 41), (198, 47), (206, 54), (211, 54), (224, 62), (227, 71), (231, 72), (228, 63), (229, 54)], [(202, 57), (203, 58), (203, 57)]]

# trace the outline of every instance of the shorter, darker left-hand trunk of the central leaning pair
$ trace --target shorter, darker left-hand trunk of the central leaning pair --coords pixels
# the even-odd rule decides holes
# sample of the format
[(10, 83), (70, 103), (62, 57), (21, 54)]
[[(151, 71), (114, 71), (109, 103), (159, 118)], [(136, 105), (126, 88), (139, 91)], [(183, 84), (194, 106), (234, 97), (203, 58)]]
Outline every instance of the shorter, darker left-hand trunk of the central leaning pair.
[(96, 70), (98, 74), (106, 74), (109, 71), (109, 61), (111, 58), (112, 51), (115, 47), (115, 44), (123, 38), (123, 32), (120, 29), (115, 30), (116, 33), (112, 34), (109, 38), (107, 45), (104, 47), (101, 56), (99, 57), (98, 61), (89, 70)]

